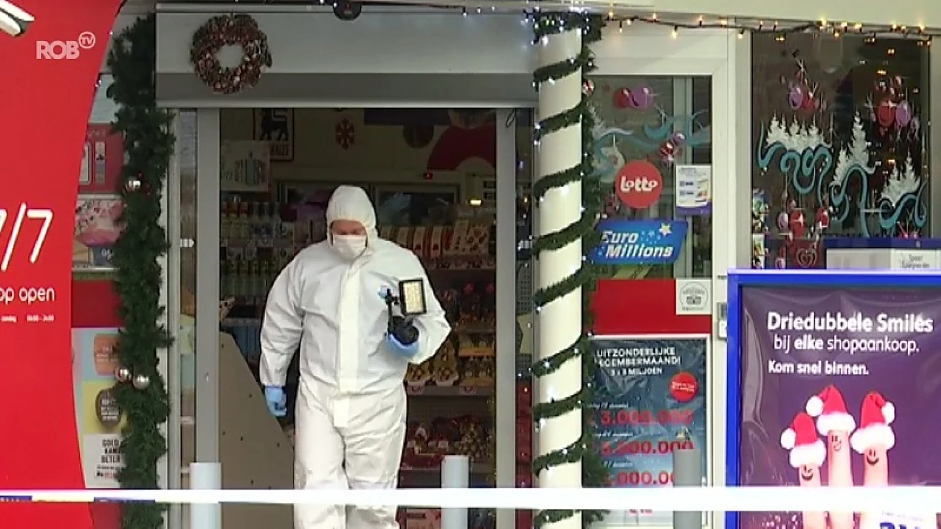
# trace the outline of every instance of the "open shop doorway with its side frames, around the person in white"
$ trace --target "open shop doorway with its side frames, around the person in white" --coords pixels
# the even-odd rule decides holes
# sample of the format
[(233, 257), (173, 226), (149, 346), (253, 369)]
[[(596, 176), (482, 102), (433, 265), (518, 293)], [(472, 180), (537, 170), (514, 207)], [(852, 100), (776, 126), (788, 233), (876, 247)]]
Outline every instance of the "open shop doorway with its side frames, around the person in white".
[[(470, 456), (475, 486), (512, 485), (516, 439), (496, 432), (515, 426), (517, 374), (527, 364), (517, 355), (517, 203), (527, 200), (532, 174), (532, 113), (256, 107), (196, 115), (203, 162), (193, 188), (181, 187), (181, 203), (198, 205), (194, 239), (216, 242), (181, 248), (193, 254), (182, 284), (197, 300), (219, 301), (195, 303), (182, 466), (217, 457), (224, 488), (292, 487), (293, 413), (271, 417), (258, 384), (264, 301), (296, 251), (323, 240), (332, 190), (354, 184), (373, 200), (380, 236), (423, 260), (455, 329), (433, 361), (408, 373), (412, 449), (400, 486), (438, 486), (443, 454)], [(296, 383), (295, 362), (289, 409)], [(495, 524), (492, 513), (475, 516), (482, 527)], [(227, 506), (224, 523), (288, 528), (290, 508)]]

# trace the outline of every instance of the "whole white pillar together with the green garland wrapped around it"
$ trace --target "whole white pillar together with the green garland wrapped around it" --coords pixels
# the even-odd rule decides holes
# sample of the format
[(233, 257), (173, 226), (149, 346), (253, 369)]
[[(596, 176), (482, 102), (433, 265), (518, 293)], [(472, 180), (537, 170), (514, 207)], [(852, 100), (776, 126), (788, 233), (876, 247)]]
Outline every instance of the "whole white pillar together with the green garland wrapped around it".
[[(592, 171), (592, 118), (585, 78), (595, 69), (590, 45), (601, 38), (603, 19), (577, 11), (536, 12), (540, 44), (534, 86), (539, 92), (539, 174), (533, 185), (534, 293), (538, 346), (532, 372), (536, 404), (538, 487), (603, 487), (608, 469), (595, 447), (591, 381), (595, 359), (588, 333), (595, 275), (584, 255), (598, 245), (595, 226), (603, 205)], [(599, 511), (548, 510), (536, 527), (575, 529), (598, 521)]]

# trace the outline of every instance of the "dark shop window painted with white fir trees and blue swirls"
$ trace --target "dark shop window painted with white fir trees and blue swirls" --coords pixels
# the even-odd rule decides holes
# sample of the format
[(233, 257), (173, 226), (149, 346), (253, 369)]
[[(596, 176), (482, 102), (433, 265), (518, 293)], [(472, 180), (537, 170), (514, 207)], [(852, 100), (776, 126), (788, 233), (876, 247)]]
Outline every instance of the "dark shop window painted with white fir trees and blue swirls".
[(865, 36), (755, 35), (752, 265), (825, 266), (929, 227), (928, 47)]

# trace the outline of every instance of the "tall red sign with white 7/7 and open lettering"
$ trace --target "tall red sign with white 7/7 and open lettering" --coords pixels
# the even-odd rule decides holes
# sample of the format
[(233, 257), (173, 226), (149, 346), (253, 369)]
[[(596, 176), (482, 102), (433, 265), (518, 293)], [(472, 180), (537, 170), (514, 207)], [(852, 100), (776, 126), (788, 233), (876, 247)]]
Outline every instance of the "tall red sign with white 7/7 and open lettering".
[[(120, 0), (0, 0), (0, 490), (84, 489), (72, 385), (72, 230)], [(2, 492), (0, 492), (2, 494)], [(4, 529), (90, 529), (89, 505), (0, 503)]]

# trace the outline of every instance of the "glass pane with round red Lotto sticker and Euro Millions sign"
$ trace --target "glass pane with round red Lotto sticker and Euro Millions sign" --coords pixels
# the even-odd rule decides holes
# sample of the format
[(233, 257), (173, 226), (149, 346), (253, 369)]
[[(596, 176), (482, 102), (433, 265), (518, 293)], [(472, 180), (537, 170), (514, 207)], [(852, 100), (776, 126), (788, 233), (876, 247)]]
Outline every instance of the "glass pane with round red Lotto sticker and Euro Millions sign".
[[(711, 275), (711, 90), (709, 77), (599, 75), (592, 79), (595, 177), (610, 185), (604, 217), (626, 232), (659, 232), (668, 258), (630, 246), (616, 279)], [(690, 194), (692, 193), (692, 194)], [(619, 231), (625, 231), (619, 230)], [(666, 232), (666, 229), (664, 229)]]

